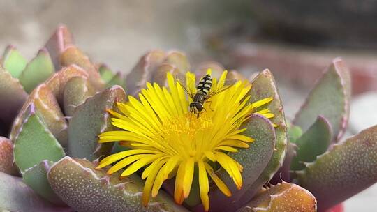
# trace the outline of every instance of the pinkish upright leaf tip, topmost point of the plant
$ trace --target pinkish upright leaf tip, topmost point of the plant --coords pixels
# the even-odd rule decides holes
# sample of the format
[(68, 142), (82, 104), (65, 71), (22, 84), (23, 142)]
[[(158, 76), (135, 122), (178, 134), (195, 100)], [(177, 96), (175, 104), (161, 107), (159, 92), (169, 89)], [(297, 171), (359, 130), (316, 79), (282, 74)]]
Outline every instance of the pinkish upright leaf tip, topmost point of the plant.
[(54, 63), (55, 70), (60, 70), (60, 54), (66, 50), (68, 45), (73, 44), (71, 32), (64, 25), (57, 28), (54, 34), (45, 44), (45, 48), (50, 52), (52, 63)]

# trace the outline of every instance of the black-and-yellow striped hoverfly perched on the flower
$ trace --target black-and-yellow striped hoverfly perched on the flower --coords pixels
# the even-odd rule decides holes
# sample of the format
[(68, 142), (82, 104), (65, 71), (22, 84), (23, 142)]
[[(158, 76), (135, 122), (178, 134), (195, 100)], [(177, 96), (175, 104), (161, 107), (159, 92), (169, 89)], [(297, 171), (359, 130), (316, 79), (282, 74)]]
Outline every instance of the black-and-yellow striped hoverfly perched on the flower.
[(207, 74), (200, 79), (200, 82), (196, 86), (196, 93), (193, 93), (190, 92), (186, 86), (184, 86), (184, 81), (182, 79), (184, 79), (184, 77), (177, 75), (177, 82), (192, 99), (192, 102), (190, 103), (190, 112), (197, 114), (198, 118), (200, 112), (205, 109), (204, 104), (207, 100), (209, 100), (209, 98), (212, 98), (216, 94), (226, 91), (226, 89), (229, 89), (237, 81), (236, 79), (226, 79), (221, 89), (214, 90), (212, 89), (212, 77), (210, 74)]

